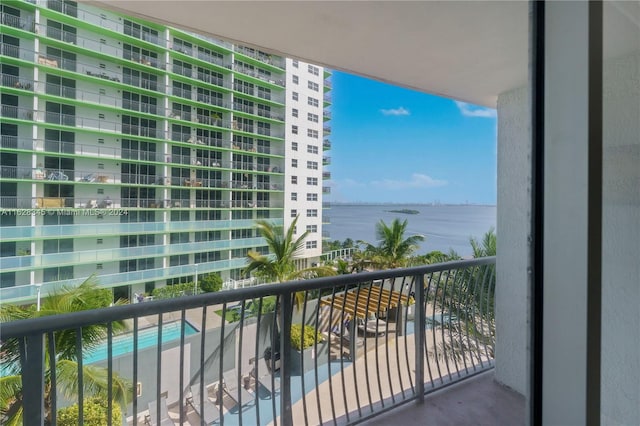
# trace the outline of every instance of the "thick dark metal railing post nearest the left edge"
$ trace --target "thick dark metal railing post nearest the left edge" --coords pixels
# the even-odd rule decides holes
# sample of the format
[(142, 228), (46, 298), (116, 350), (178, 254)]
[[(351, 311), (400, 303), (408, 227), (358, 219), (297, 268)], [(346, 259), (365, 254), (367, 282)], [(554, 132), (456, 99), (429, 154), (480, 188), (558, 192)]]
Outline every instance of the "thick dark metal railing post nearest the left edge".
[(44, 334), (20, 339), (20, 352), (23, 421), (25, 425), (44, 425)]

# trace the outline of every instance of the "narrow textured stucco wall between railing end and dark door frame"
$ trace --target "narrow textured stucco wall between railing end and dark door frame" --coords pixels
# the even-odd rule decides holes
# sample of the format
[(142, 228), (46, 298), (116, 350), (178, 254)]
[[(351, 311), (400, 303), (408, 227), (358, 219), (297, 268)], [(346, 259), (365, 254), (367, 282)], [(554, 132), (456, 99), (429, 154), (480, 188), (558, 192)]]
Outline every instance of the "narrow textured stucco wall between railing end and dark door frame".
[(524, 395), (528, 375), (527, 271), (531, 221), (529, 105), (527, 88), (498, 97), (495, 378)]

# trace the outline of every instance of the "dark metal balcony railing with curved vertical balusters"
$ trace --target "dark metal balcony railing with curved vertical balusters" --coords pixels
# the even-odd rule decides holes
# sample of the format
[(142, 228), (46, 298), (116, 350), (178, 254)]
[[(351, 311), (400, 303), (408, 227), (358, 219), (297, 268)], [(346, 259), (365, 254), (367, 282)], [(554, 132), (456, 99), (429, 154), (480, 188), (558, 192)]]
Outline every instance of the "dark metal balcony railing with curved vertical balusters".
[[(165, 274), (174, 269), (194, 273), (182, 265)], [(25, 424), (44, 424), (45, 406), (55, 422), (55, 337), (75, 333), (79, 382), (84, 364), (143, 389), (123, 407), (128, 422), (142, 424), (166, 402), (180, 423), (199, 419), (193, 407), (205, 405), (209, 421), (224, 424), (356, 423), (491, 369), (494, 292), (495, 258), (484, 258), (14, 321), (2, 324), (3, 374), (22, 375)], [(106, 332), (115, 322), (131, 331), (83, 345), (83, 327)], [(133, 349), (116, 352), (121, 340)], [(294, 349), (306, 341), (308, 349)]]

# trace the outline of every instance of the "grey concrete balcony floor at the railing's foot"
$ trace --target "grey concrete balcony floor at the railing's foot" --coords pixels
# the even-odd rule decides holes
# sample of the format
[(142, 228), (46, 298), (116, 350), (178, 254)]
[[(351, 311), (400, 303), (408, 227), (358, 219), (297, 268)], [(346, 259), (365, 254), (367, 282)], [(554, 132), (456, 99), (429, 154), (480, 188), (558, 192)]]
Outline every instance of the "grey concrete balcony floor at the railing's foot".
[(390, 410), (361, 424), (367, 426), (518, 426), (526, 423), (522, 395), (496, 383), (493, 370)]

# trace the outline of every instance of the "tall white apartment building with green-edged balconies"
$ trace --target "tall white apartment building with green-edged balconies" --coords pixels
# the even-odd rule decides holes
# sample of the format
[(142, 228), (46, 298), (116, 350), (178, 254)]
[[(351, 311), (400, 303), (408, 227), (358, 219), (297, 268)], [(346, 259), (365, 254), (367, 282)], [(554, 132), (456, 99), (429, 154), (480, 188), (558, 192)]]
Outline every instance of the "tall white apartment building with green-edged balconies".
[(329, 73), (87, 4), (0, 4), (0, 300), (242, 278), (256, 219), (322, 248)]

